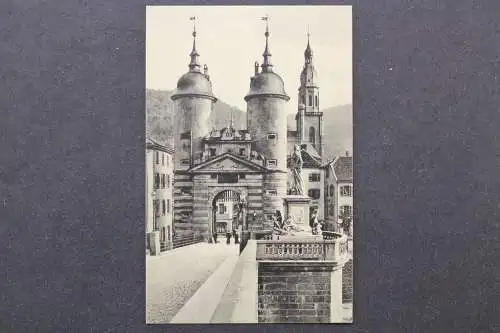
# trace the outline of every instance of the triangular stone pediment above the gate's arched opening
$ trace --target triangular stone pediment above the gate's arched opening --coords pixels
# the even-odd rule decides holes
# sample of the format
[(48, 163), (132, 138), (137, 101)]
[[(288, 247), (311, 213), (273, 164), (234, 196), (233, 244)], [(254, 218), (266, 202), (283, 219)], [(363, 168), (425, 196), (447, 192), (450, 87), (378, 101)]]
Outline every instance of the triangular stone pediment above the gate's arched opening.
[(262, 173), (267, 169), (253, 162), (238, 158), (229, 153), (199, 164), (189, 170), (191, 173), (238, 172)]

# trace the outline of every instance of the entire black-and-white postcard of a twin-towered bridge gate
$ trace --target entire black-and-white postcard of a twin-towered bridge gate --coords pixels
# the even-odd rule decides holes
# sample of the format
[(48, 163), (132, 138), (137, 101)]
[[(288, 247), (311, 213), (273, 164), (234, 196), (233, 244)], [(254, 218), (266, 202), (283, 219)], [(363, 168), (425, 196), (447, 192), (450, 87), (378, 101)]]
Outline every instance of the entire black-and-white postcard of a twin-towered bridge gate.
[(351, 6), (146, 7), (146, 323), (352, 323)]

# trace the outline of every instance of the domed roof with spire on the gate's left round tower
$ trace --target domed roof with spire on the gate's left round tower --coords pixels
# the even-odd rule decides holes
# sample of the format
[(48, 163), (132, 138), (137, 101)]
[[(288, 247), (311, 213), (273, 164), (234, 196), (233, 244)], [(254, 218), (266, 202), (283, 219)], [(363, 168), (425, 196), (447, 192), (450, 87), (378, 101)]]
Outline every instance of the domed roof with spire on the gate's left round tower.
[(196, 28), (193, 30), (193, 49), (190, 57), (189, 71), (177, 81), (177, 89), (175, 89), (170, 98), (175, 101), (181, 97), (195, 96), (208, 98), (214, 102), (217, 101), (212, 92), (212, 82), (210, 82), (210, 77), (208, 76), (208, 67), (205, 65), (204, 72), (201, 72), (200, 54), (196, 50)]

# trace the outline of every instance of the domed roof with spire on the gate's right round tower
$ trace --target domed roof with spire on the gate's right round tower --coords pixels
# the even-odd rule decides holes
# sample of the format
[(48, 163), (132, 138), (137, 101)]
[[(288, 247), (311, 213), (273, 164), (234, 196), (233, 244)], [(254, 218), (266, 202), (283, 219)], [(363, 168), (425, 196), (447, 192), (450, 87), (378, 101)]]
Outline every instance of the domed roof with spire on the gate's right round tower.
[(250, 91), (245, 96), (245, 101), (262, 95), (272, 95), (288, 101), (290, 97), (285, 92), (285, 83), (281, 76), (273, 71), (271, 52), (269, 51), (269, 25), (266, 25), (266, 33), (264, 35), (266, 36), (266, 47), (262, 54), (264, 57), (264, 62), (261, 65), (262, 71), (259, 73), (256, 63), (255, 76), (250, 79)]

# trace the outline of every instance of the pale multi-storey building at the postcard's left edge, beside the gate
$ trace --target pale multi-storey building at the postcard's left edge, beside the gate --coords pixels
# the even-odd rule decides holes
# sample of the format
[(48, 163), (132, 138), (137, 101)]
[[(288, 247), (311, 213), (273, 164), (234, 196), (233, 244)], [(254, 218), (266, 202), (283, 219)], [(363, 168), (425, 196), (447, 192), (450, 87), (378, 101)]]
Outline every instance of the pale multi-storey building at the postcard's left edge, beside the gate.
[[(174, 150), (152, 138), (146, 142), (146, 235), (157, 232), (160, 250), (172, 248)], [(151, 237), (146, 239), (151, 250)]]

